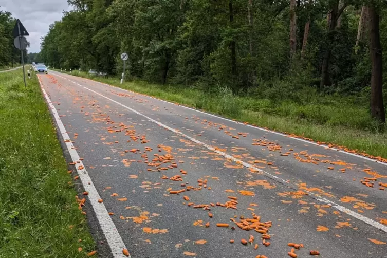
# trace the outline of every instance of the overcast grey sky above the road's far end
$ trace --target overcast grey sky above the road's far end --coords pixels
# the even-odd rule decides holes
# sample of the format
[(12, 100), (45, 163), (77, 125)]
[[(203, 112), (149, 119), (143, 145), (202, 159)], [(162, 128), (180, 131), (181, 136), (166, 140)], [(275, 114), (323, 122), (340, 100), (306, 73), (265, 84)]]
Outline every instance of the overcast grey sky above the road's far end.
[(0, 10), (20, 19), (30, 34), (27, 36), (31, 44), (28, 52), (40, 51), (40, 38), (47, 34), (48, 26), (61, 20), (62, 12), (70, 9), (66, 0), (0, 0)]

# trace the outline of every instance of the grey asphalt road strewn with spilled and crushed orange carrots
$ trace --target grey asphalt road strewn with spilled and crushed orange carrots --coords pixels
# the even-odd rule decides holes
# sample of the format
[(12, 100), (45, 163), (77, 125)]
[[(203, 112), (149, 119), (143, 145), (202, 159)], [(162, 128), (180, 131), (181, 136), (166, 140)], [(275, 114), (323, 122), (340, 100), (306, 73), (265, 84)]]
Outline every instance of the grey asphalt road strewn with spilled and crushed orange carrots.
[(387, 164), (91, 80), (39, 77), (132, 257), (289, 257), (288, 243), (303, 244), (298, 257), (387, 257)]

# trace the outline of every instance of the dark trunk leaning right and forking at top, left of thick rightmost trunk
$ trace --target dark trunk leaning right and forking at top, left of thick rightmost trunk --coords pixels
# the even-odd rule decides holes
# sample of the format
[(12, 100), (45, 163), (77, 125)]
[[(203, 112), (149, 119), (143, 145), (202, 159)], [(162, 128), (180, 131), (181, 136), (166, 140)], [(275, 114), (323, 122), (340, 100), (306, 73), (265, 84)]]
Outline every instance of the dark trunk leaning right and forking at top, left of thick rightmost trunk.
[(331, 12), (330, 12), (330, 19), (329, 19), (329, 29), (328, 29), (328, 40), (327, 40), (327, 50), (324, 54), (324, 59), (321, 67), (321, 81), (320, 81), (320, 89), (322, 89), (325, 85), (330, 85), (329, 80), (329, 59), (330, 59), (330, 53), (331, 53), (331, 47), (333, 46), (333, 43), (335, 41), (335, 29), (337, 26), (337, 20), (339, 19), (341, 13), (346, 8), (347, 4), (344, 4), (339, 9), (339, 1), (335, 1), (334, 5), (332, 6)]

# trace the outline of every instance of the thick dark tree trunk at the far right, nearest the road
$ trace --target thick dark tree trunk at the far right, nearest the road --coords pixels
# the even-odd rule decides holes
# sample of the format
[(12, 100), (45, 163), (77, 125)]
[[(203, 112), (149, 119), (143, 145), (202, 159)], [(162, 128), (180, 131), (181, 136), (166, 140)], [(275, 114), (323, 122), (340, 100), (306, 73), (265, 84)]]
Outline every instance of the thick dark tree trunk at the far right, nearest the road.
[(375, 3), (369, 7), (371, 29), (371, 116), (385, 122), (383, 103), (383, 57), (379, 35), (379, 13)]

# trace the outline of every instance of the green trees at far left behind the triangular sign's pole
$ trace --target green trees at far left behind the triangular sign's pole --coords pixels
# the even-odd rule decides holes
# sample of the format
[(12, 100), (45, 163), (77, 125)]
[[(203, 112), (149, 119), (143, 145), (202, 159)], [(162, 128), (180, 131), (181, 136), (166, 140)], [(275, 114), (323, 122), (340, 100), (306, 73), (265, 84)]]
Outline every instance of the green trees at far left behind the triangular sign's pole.
[(10, 12), (0, 10), (0, 67), (21, 63), (20, 50), (13, 46), (12, 29), (15, 23), (16, 19)]

